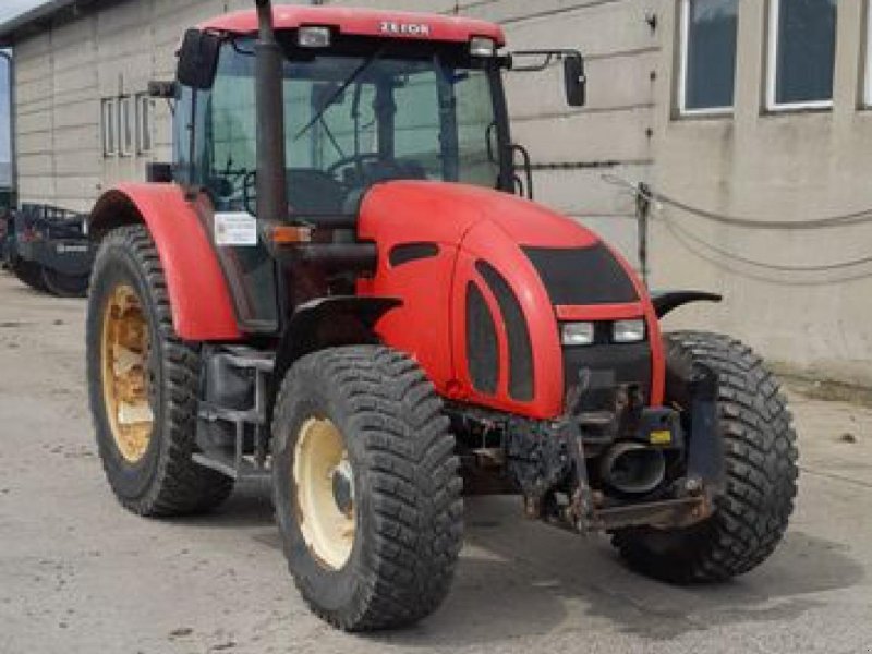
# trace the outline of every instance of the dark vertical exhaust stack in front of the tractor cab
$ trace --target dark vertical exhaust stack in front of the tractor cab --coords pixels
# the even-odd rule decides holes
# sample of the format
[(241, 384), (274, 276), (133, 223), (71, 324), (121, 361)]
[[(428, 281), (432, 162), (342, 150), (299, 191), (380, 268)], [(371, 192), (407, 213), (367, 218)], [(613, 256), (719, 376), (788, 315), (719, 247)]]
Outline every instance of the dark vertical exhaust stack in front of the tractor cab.
[(288, 173), (284, 169), (284, 56), (276, 40), (270, 0), (255, 0), (258, 37), (255, 45), (257, 97), (257, 217), (288, 219)]

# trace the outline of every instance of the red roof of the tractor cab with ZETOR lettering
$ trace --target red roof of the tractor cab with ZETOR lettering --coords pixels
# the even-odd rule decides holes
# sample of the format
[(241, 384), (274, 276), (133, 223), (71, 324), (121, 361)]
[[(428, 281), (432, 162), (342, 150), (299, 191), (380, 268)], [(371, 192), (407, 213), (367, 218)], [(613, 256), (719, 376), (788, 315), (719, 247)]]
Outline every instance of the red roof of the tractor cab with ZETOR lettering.
[[(493, 38), (499, 46), (506, 45), (506, 35), (499, 25), (432, 13), (279, 4), (272, 8), (272, 20), (276, 29), (322, 25), (355, 36), (455, 43), (483, 36)], [(257, 12), (251, 9), (228, 13), (202, 23), (199, 28), (225, 34), (255, 34)]]

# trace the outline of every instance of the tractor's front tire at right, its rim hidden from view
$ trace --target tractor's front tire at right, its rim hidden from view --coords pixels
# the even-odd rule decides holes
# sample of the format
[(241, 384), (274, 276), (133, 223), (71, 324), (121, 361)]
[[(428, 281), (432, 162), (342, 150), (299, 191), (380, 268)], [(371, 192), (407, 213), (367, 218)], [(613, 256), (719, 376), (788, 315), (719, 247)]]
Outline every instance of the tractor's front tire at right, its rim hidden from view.
[[(614, 544), (634, 569), (674, 582), (716, 582), (749, 572), (775, 550), (797, 492), (796, 434), (778, 382), (739, 341), (715, 334), (665, 336), (667, 403), (690, 409), (687, 380), (701, 363), (718, 376), (717, 421), (726, 487), (715, 512), (680, 530), (631, 529)], [(689, 427), (688, 416), (682, 421)]]

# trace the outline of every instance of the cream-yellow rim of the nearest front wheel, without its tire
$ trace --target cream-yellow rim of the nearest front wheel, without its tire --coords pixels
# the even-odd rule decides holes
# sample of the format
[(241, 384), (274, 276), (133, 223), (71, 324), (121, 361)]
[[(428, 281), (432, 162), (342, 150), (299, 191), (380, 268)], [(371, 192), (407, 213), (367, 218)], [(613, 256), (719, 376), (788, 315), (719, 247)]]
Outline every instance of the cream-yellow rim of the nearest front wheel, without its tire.
[(293, 482), (296, 519), (308, 550), (324, 567), (342, 569), (354, 547), (354, 474), (332, 421), (312, 419), (300, 428)]

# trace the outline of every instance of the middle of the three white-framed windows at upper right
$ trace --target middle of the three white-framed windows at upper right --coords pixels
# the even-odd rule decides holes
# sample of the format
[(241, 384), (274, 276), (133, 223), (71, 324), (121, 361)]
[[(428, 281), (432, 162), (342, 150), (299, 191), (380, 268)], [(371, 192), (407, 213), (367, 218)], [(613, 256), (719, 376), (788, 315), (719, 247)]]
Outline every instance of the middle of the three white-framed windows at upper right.
[(833, 105), (836, 0), (771, 0), (767, 107)]

